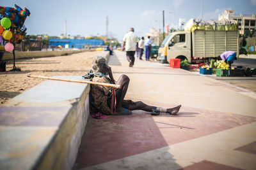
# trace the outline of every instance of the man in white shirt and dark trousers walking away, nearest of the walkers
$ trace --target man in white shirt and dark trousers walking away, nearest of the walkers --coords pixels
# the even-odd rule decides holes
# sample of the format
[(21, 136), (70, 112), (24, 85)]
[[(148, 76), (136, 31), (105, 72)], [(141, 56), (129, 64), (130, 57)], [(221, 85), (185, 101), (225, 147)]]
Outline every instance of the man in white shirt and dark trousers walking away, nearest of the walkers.
[(130, 31), (125, 34), (123, 41), (122, 51), (126, 51), (127, 60), (130, 62), (129, 67), (132, 67), (135, 60), (135, 51), (138, 52), (138, 48), (136, 48), (138, 46), (138, 36), (134, 34), (134, 28), (130, 28)]

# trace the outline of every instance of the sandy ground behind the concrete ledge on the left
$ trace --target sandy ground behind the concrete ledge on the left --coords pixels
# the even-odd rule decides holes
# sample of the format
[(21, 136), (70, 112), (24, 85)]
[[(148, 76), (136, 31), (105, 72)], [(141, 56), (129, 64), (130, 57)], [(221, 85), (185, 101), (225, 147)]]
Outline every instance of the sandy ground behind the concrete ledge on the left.
[(83, 76), (92, 65), (93, 56), (101, 52), (83, 52), (58, 57), (44, 57), (33, 59), (17, 59), (16, 67), (21, 71), (8, 71), (12, 69), (13, 60), (6, 63), (6, 72), (0, 72), (0, 105), (10, 101), (13, 97), (31, 89), (44, 80), (28, 78), (28, 74), (42, 76)]

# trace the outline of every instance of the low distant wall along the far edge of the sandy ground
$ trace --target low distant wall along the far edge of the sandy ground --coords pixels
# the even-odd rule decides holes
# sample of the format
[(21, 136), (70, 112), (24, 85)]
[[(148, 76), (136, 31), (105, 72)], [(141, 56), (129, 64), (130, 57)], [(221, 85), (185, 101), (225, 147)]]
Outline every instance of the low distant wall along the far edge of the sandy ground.
[[(60, 50), (60, 51), (33, 51), (33, 52), (15, 52), (15, 59), (26, 59), (35, 57), (52, 57), (61, 55), (70, 55), (72, 53), (85, 52), (89, 50)], [(92, 51), (92, 50), (90, 50)], [(94, 50), (93, 50), (94, 51)], [(3, 60), (12, 60), (12, 53), (4, 53)]]

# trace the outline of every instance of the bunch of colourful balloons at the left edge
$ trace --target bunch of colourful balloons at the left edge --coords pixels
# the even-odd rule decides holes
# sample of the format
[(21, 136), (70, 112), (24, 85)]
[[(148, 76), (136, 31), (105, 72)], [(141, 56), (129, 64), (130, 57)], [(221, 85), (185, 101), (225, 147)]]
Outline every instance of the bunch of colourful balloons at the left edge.
[[(27, 30), (24, 22), (30, 15), (27, 8), (20, 8), (15, 4), (15, 8), (0, 6), (0, 42), (7, 41), (4, 45), (6, 52), (12, 52), (14, 43), (20, 43)], [(2, 37), (3, 38), (2, 38)]]

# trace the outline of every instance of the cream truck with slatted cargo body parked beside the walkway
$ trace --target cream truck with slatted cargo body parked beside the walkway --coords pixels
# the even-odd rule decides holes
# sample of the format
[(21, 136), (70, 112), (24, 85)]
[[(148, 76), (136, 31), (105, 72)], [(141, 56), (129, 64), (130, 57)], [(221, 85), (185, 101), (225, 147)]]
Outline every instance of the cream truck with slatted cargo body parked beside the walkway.
[(217, 26), (214, 29), (206, 29), (205, 26), (203, 30), (198, 26), (193, 27), (191, 31), (169, 34), (158, 50), (159, 61), (166, 63), (170, 59), (187, 59), (189, 63), (209, 62), (225, 51), (234, 51), (239, 56), (237, 28), (220, 26), (223, 27), (218, 27), (218, 30)]

